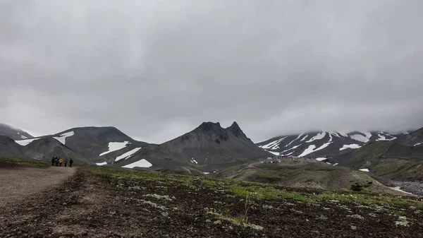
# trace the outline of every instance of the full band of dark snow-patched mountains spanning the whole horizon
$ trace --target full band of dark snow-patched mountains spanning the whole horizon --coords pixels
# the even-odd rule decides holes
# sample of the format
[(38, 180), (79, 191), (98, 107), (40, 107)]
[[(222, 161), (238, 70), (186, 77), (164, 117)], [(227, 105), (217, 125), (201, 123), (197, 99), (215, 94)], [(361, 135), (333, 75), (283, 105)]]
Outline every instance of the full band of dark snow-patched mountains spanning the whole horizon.
[[(204, 171), (240, 165), (272, 155), (287, 155), (317, 158), (376, 172), (377, 166), (389, 161), (386, 159), (407, 160), (408, 163), (417, 159), (419, 162), (423, 158), (419, 149), (423, 148), (423, 129), (403, 134), (317, 131), (278, 136), (255, 144), (236, 122), (227, 128), (221, 127), (219, 122), (204, 122), (171, 141), (150, 144), (136, 141), (111, 126), (78, 127), (40, 137), (33, 137), (4, 124), (0, 128), (3, 135), (0, 136), (0, 157), (50, 160), (59, 155), (73, 157), (80, 163), (129, 168), (202, 167)], [(379, 150), (383, 153), (374, 153)], [(414, 171), (412, 169), (407, 171)], [(377, 171), (383, 176), (380, 169)]]

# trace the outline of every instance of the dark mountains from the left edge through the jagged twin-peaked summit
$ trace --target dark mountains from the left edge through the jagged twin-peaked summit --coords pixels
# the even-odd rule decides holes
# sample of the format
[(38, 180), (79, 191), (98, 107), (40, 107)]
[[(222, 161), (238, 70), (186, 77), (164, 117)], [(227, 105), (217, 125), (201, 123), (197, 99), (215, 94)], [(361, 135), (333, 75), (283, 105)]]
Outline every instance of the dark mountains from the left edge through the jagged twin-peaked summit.
[(79, 127), (49, 136), (9, 139), (4, 147), (3, 157), (50, 160), (58, 155), (119, 167), (224, 165), (270, 155), (247, 138), (236, 122), (226, 129), (219, 122), (204, 122), (159, 145), (135, 141), (115, 127)]

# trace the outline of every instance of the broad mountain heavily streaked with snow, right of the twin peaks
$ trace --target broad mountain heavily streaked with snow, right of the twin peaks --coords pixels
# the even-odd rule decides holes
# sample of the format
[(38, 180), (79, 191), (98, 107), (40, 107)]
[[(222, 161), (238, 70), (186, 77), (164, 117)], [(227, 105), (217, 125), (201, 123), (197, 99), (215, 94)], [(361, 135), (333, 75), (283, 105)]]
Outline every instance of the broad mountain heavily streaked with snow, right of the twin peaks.
[(299, 157), (331, 157), (362, 147), (371, 141), (392, 141), (396, 136), (386, 132), (339, 133), (320, 131), (300, 135), (278, 136), (257, 143), (260, 148), (274, 155)]

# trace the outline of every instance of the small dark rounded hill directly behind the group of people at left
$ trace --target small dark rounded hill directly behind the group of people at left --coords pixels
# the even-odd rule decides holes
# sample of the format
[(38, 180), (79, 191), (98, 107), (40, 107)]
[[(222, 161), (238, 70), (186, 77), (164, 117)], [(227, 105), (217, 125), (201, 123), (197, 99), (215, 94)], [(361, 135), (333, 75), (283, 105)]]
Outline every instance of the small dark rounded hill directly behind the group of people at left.
[(72, 158), (75, 162), (89, 163), (71, 148), (51, 137), (32, 141), (23, 147), (23, 151), (27, 157), (35, 160), (51, 160), (51, 157), (60, 156), (62, 158)]

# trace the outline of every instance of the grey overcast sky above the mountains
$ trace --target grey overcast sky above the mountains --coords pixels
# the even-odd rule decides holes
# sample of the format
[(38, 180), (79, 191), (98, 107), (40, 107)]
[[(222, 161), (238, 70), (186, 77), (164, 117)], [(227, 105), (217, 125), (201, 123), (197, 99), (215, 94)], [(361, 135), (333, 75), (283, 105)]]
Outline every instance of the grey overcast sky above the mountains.
[(202, 121), (253, 141), (423, 126), (423, 1), (0, 1), (0, 122), (116, 126), (161, 143)]

